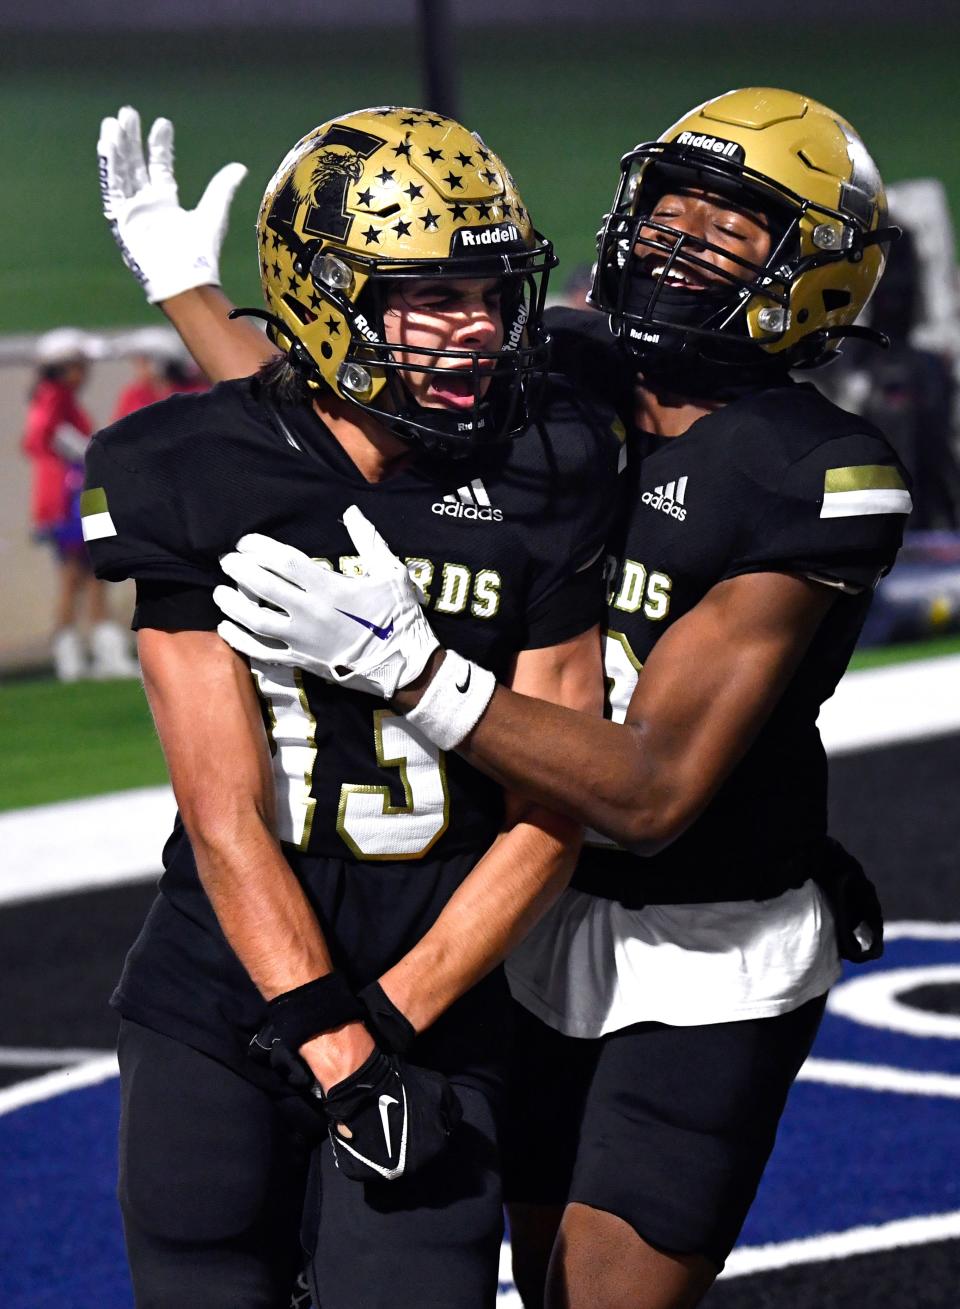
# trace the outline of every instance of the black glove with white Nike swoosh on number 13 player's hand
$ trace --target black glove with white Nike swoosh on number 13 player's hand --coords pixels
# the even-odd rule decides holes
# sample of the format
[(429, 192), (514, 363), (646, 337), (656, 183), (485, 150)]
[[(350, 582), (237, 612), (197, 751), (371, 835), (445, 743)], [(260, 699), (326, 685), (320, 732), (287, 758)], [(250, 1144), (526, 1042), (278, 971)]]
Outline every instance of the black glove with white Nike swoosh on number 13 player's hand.
[(439, 1073), (375, 1050), (326, 1094), (314, 1085), (327, 1119), (337, 1166), (356, 1182), (409, 1177), (445, 1148), (462, 1117)]

